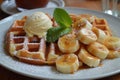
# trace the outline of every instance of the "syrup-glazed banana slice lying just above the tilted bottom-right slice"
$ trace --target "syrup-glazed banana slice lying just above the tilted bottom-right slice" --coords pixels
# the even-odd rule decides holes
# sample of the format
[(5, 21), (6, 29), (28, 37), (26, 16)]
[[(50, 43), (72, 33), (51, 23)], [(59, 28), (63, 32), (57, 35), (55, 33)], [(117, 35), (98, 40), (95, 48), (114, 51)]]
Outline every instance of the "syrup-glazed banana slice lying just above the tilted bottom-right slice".
[(98, 42), (90, 44), (87, 49), (92, 55), (100, 59), (105, 59), (109, 53), (107, 47)]

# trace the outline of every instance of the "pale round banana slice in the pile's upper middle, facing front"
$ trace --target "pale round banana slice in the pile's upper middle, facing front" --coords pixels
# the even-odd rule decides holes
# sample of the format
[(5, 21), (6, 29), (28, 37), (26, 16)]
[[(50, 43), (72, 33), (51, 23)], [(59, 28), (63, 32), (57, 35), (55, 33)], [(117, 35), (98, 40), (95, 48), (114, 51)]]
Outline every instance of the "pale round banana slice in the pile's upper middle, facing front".
[(92, 30), (87, 29), (87, 28), (82, 28), (78, 32), (77, 37), (80, 40), (80, 42), (82, 42), (86, 45), (88, 45), (88, 44), (97, 40), (96, 34)]

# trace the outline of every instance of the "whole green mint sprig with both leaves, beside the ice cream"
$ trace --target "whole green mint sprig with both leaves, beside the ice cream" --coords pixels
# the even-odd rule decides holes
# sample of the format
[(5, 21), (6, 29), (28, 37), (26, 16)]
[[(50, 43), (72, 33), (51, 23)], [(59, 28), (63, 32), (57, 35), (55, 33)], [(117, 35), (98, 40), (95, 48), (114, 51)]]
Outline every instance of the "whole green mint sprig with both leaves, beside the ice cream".
[(71, 31), (72, 19), (64, 9), (56, 8), (53, 17), (59, 26), (48, 29), (47, 42), (55, 42), (60, 36)]

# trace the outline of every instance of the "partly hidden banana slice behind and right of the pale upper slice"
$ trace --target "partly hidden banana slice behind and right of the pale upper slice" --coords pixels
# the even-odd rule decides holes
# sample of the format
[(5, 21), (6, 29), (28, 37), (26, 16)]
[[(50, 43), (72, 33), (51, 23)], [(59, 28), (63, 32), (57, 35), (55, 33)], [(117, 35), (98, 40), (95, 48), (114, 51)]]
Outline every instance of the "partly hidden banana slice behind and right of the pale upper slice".
[(92, 28), (93, 32), (97, 35), (97, 41), (100, 43), (103, 43), (105, 41), (105, 39), (108, 37), (108, 35), (106, 35), (106, 33), (98, 28)]

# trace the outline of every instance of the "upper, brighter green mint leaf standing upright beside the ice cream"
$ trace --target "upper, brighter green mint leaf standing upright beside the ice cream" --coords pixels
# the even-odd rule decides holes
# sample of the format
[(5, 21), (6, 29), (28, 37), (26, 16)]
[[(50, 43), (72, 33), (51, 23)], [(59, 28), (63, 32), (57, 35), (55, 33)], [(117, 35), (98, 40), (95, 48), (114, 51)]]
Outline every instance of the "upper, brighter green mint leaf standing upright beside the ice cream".
[(59, 26), (63, 26), (61, 25), (61, 23), (64, 24), (65, 27), (70, 27), (72, 24), (72, 20), (69, 14), (64, 9), (56, 8), (54, 10), (53, 16), (55, 21), (59, 24)]

